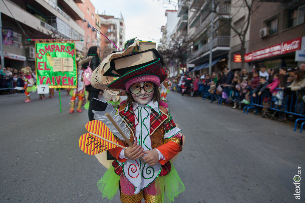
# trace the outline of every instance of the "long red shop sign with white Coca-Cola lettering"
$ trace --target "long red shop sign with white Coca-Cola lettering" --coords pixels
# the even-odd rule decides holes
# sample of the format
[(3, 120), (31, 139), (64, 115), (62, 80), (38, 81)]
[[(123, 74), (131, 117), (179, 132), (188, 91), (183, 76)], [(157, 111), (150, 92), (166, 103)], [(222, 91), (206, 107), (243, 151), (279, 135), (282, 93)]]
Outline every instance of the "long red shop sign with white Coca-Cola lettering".
[(285, 41), (270, 47), (256, 50), (254, 52), (246, 53), (244, 55), (245, 62), (264, 59), (271, 56), (286, 54), (289, 52), (295, 52), (296, 50), (301, 49), (301, 40), (302, 38), (299, 37), (297, 39)]

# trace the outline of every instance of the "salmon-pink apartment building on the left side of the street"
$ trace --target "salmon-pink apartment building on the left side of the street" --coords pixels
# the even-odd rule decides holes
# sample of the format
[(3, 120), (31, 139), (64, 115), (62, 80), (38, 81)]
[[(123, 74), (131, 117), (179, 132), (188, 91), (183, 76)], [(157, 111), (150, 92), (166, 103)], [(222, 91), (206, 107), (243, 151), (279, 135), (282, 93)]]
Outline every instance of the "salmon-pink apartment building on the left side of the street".
[(88, 49), (92, 46), (100, 46), (100, 42), (95, 40), (96, 30), (93, 28), (96, 24), (95, 7), (90, 0), (83, 0), (81, 3), (77, 3), (77, 6), (84, 13), (83, 20), (77, 20), (79, 26), (84, 29), (84, 54), (87, 54)]

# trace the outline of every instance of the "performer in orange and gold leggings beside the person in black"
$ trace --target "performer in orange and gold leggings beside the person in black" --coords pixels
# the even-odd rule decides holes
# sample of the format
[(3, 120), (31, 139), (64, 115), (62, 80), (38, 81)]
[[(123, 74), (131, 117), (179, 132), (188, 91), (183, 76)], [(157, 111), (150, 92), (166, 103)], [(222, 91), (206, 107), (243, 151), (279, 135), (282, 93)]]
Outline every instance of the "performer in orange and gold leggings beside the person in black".
[(77, 88), (73, 90), (72, 98), (71, 98), (71, 108), (69, 113), (74, 112), (75, 99), (78, 96), (78, 104), (77, 104), (77, 112), (82, 112), (81, 104), (83, 103), (84, 94), (84, 82), (83, 82), (83, 69), (82, 66), (77, 66)]

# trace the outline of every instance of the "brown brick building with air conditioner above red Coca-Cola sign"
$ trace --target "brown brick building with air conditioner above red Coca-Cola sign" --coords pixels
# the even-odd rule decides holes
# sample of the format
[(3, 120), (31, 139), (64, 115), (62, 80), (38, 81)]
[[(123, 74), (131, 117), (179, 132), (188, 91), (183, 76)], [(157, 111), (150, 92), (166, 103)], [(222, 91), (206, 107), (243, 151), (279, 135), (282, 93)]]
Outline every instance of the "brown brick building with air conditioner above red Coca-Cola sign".
[(249, 52), (245, 54), (245, 62), (251, 67), (299, 66), (305, 61), (304, 14), (304, 0), (267, 0), (262, 3), (251, 16)]

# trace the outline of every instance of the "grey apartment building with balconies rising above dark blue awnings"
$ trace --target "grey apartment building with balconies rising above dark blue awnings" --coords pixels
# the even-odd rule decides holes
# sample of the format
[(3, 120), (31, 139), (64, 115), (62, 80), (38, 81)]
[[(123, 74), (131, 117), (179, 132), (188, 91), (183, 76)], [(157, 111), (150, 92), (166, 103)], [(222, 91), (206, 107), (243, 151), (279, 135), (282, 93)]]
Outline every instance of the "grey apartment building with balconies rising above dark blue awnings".
[(192, 70), (195, 74), (208, 73), (211, 43), (211, 71), (224, 70), (228, 66), (230, 25), (226, 19), (231, 18), (231, 4), (228, 1), (218, 4), (216, 11), (219, 15), (212, 10), (209, 0), (192, 1), (188, 7), (188, 37), (193, 39), (193, 52), (187, 62), (195, 64)]

